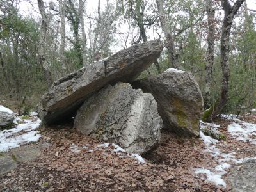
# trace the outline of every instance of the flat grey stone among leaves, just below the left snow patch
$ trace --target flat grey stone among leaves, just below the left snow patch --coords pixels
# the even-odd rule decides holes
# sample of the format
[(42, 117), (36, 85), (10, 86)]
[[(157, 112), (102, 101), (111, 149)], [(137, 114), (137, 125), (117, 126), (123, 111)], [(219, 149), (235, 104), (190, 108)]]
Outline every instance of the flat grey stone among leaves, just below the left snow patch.
[(17, 162), (33, 161), (42, 154), (40, 148), (36, 145), (24, 145), (13, 148), (10, 153), (15, 157)]

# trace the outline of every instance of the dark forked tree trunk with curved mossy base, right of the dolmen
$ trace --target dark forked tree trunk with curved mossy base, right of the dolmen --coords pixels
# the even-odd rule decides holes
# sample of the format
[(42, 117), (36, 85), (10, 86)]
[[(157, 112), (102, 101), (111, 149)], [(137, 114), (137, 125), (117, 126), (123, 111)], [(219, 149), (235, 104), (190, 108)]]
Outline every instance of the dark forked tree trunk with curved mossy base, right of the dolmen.
[[(245, 0), (237, 0), (233, 6), (230, 5), (228, 0), (221, 0), (221, 6), (225, 12), (223, 24), (222, 24), (222, 33), (221, 33), (221, 69), (222, 69), (222, 81), (221, 81), (221, 92), (216, 103), (205, 111), (204, 119), (208, 122), (211, 122), (216, 118), (216, 116), (224, 108), (225, 104), (228, 101), (228, 85), (229, 85), (229, 76), (230, 70), (228, 67), (228, 54), (230, 49), (229, 38), (230, 31), (232, 27), (232, 22), (237, 11), (241, 7)], [(206, 114), (207, 113), (207, 114)]]

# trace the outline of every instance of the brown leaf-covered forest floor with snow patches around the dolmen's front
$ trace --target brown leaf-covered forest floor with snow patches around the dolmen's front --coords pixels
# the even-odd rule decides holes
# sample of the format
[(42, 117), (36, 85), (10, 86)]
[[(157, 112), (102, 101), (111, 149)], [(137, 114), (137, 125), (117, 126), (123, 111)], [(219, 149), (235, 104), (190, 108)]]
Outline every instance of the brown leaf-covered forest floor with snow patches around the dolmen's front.
[[(163, 132), (159, 148), (144, 156), (146, 163), (115, 152), (113, 145), (100, 145), (72, 123), (40, 127), (38, 142), (19, 147), (20, 153), (6, 153), (15, 166), (0, 175), (0, 191), (230, 191), (226, 178), (232, 167), (256, 157), (256, 132), (250, 129), (256, 115), (219, 118), (215, 123), (226, 141)], [(239, 125), (244, 131), (239, 132)], [(19, 161), (19, 154), (28, 159)]]

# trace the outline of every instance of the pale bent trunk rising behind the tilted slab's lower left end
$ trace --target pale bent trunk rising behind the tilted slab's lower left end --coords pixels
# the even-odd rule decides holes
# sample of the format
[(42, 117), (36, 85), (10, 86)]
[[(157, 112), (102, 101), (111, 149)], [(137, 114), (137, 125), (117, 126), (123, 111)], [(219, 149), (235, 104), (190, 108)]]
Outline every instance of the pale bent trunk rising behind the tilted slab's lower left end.
[(45, 7), (44, 7), (44, 2), (42, 0), (37, 0), (38, 2), (38, 8), (41, 14), (41, 29), (40, 29), (40, 42), (39, 42), (39, 63), (42, 66), (44, 70), (44, 76), (45, 80), (47, 81), (47, 84), (49, 87), (51, 87), (52, 84), (52, 76), (51, 76), (51, 71), (46, 63), (45, 60), (45, 42), (46, 42), (46, 36), (47, 36), (47, 15), (45, 13)]

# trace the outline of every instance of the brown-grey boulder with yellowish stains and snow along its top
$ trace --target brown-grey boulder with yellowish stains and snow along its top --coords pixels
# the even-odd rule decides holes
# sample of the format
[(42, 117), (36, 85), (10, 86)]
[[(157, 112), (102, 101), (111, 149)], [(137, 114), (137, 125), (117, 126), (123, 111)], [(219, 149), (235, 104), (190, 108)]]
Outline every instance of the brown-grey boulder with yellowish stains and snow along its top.
[(168, 69), (156, 77), (132, 83), (156, 99), (164, 129), (180, 136), (198, 136), (203, 98), (198, 83), (189, 72)]

